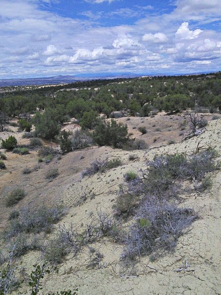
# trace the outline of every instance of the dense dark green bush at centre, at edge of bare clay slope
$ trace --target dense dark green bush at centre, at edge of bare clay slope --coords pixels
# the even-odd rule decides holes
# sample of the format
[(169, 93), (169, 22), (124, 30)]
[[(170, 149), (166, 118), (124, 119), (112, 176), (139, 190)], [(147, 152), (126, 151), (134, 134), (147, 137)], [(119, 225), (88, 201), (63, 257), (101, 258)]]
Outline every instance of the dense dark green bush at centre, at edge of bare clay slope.
[(122, 123), (117, 124), (113, 119), (111, 122), (101, 121), (94, 128), (93, 138), (99, 146), (122, 148), (128, 141), (128, 128)]

